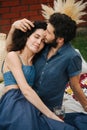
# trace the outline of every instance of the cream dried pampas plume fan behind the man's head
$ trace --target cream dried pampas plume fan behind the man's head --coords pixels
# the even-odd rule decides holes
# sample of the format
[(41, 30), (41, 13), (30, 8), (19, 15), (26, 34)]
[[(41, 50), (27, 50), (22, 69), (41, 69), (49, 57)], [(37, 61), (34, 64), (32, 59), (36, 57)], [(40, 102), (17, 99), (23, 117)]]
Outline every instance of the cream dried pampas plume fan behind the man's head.
[(87, 6), (87, 2), (83, 3), (83, 0), (75, 1), (75, 0), (54, 0), (54, 7), (50, 7), (47, 5), (42, 6), (42, 15), (48, 20), (50, 15), (53, 13), (59, 12), (62, 14), (66, 14), (76, 21), (77, 24), (84, 22), (81, 20), (82, 16), (87, 14), (84, 12), (84, 9)]

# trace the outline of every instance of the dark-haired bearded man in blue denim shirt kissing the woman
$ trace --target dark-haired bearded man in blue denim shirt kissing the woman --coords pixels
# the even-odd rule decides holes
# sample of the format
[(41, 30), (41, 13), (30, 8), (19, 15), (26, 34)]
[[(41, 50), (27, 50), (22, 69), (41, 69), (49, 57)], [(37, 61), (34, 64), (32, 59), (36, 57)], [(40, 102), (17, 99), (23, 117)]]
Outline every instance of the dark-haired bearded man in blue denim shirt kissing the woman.
[[(7, 43), (11, 42), (15, 28), (26, 31), (30, 26), (33, 23), (27, 19), (16, 21), (9, 32)], [(82, 61), (70, 44), (75, 35), (75, 21), (65, 14), (51, 15), (45, 32), (46, 47), (35, 62), (36, 79), (33, 88), (52, 111), (55, 106), (62, 105), (68, 82), (87, 111), (87, 99), (79, 84)]]

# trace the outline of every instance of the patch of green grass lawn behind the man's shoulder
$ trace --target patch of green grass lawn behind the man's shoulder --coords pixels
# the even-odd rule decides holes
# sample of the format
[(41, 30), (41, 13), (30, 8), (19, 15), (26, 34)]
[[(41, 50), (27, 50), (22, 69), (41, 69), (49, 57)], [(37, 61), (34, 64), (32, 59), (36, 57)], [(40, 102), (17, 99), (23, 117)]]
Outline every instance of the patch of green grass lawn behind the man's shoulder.
[(87, 34), (78, 34), (72, 41), (72, 45), (79, 49), (83, 58), (87, 61)]

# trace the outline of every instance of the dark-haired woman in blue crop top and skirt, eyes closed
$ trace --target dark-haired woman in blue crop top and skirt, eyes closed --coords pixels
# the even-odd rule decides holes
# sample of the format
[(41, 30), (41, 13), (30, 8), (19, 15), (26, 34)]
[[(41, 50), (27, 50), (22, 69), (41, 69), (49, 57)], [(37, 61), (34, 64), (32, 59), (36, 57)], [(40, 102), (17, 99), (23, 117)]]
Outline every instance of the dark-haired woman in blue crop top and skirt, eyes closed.
[(0, 130), (60, 130), (60, 126), (61, 130), (74, 130), (51, 112), (31, 87), (35, 77), (33, 57), (44, 46), (45, 29), (45, 22), (34, 22), (27, 32), (16, 29), (12, 44), (7, 45), (2, 67), (5, 94), (0, 100)]

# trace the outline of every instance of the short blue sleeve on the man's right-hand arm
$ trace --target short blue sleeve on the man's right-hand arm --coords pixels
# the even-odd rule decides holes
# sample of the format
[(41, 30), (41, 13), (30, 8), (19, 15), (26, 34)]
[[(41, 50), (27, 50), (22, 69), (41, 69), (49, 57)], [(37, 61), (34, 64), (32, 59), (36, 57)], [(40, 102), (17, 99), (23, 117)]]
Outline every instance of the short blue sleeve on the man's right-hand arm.
[(69, 61), (68, 66), (69, 77), (76, 76), (80, 74), (81, 71), (82, 71), (82, 59), (79, 55), (76, 55)]

